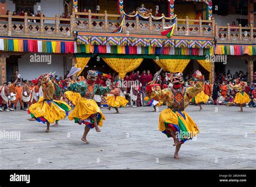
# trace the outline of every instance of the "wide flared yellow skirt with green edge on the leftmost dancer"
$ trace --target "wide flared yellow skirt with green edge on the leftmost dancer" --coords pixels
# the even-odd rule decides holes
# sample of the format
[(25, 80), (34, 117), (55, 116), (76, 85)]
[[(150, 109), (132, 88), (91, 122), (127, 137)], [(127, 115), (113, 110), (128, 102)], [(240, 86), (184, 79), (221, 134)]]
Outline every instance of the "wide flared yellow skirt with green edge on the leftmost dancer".
[(44, 100), (40, 97), (38, 102), (29, 107), (29, 114), (37, 121), (54, 123), (68, 116), (71, 107), (62, 100)]

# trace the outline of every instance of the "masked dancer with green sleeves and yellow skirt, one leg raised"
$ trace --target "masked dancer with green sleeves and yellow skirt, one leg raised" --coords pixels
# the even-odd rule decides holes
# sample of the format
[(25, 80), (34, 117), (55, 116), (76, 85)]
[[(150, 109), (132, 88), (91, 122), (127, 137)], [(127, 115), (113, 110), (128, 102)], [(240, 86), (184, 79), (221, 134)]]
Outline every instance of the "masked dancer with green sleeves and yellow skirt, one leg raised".
[(79, 125), (85, 124), (84, 134), (81, 138), (85, 143), (89, 143), (86, 137), (90, 129), (95, 127), (96, 132), (100, 132), (99, 126), (103, 125), (103, 120), (105, 119), (99, 106), (95, 100), (93, 100), (93, 97), (95, 95), (105, 95), (112, 90), (109, 86), (102, 87), (99, 84), (96, 84), (97, 78), (97, 71), (89, 70), (85, 81), (76, 83), (70, 82), (68, 84), (68, 89), (70, 91), (80, 93), (80, 97), (76, 96), (76, 100), (72, 100), (72, 103), (75, 104), (75, 108), (69, 114), (69, 119), (75, 120), (75, 123), (78, 123)]

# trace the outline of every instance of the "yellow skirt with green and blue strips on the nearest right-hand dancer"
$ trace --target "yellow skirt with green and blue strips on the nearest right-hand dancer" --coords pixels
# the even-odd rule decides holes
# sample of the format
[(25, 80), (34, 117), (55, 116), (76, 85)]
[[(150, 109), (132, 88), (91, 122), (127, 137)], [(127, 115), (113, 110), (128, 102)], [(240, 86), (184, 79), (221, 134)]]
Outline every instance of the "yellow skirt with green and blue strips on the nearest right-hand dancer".
[(171, 132), (178, 134), (180, 143), (191, 140), (199, 133), (199, 128), (185, 111), (173, 112), (171, 109), (161, 111), (159, 116), (159, 131), (172, 137)]

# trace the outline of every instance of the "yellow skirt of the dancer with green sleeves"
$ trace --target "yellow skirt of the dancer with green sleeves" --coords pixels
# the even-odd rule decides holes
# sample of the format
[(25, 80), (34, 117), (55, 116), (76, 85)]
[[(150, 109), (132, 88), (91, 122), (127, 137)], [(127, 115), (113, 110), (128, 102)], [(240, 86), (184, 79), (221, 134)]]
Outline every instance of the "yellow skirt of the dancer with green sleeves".
[(75, 108), (69, 114), (70, 120), (75, 120), (75, 123), (85, 124), (91, 128), (94, 128), (92, 116), (96, 116), (97, 124), (103, 125), (105, 117), (102, 111), (99, 109), (97, 103), (92, 99), (86, 99), (84, 97), (78, 98)]

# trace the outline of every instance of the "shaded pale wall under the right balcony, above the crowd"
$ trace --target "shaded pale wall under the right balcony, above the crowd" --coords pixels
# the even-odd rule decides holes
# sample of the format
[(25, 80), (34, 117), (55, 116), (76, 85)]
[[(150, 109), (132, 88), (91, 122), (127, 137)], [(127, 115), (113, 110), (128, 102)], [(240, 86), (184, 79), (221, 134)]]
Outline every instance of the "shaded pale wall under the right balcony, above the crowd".
[(235, 71), (244, 71), (244, 74), (247, 72), (247, 64), (245, 60), (241, 60), (238, 57), (227, 56), (226, 72), (230, 69), (230, 73), (233, 75)]

